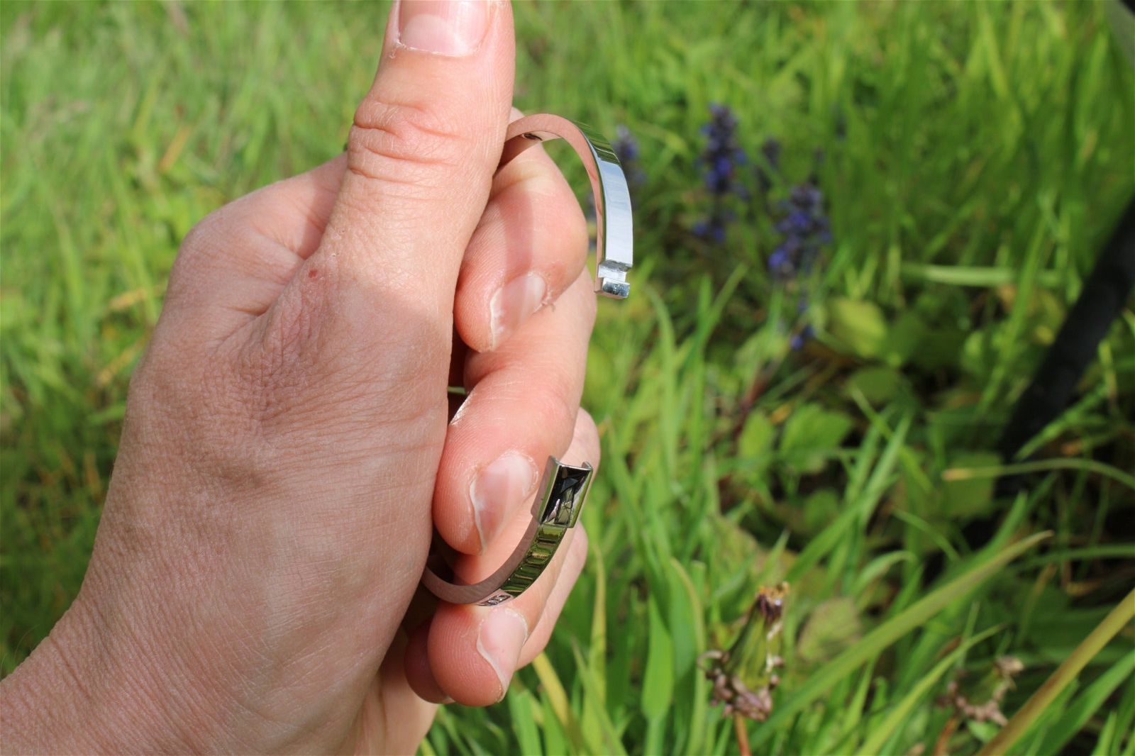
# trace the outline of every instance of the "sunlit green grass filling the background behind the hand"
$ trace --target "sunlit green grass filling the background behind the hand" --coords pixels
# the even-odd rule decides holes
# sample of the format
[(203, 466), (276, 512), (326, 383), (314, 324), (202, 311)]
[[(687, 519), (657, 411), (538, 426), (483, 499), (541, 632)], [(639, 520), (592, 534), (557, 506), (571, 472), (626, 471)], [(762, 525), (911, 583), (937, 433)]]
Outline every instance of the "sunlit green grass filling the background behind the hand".
[[(180, 237), (340, 149), (384, 19), (0, 5), (3, 672), (79, 586)], [(1108, 618), (1135, 581), (1129, 306), (1017, 468), (1023, 492), (998, 497), (991, 477), (1135, 186), (1135, 77), (1102, 3), (523, 2), (516, 20), (520, 108), (638, 137), (642, 264), (594, 342), (585, 574), (547, 656), (503, 704), (444, 708), (423, 751), (735, 753), (697, 657), (787, 578), (783, 681), (748, 724), (755, 751), (943, 737), (974, 753), (998, 728), (935, 699), (1012, 654), (1008, 716), (1083, 663), (1011, 725), (1012, 753), (1135, 753), (1135, 636)], [(751, 156), (781, 140), (785, 185), (824, 150), (834, 240), (807, 279), (770, 280), (759, 205), (737, 208), (724, 244), (689, 233), (711, 102)], [(804, 321), (817, 338), (793, 352)]]

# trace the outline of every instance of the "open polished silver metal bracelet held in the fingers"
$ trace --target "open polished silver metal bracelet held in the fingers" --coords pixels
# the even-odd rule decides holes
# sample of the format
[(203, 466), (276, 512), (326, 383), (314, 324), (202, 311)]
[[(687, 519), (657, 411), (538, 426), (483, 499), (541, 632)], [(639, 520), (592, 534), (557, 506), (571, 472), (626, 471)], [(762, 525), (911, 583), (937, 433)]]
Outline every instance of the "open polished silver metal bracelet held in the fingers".
[[(591, 179), (596, 222), (595, 291), (627, 299), (630, 294), (627, 272), (633, 264), (631, 196), (619, 158), (606, 140), (590, 127), (560, 116), (527, 116), (508, 126), (497, 170), (528, 148), (557, 138), (575, 150)], [(452, 564), (457, 554), (435, 534), (422, 585), (452, 604), (495, 606), (520, 596), (547, 569), (568, 530), (579, 520), (592, 472), (588, 463), (577, 467), (549, 456), (532, 502), (531, 522), (505, 563), (476, 583), (455, 582)]]

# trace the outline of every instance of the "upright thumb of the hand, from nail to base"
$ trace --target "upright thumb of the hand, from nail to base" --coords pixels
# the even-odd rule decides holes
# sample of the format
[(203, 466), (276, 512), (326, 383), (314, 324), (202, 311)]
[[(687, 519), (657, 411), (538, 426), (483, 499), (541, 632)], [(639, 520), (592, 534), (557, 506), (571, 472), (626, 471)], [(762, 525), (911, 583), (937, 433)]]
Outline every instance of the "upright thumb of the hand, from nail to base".
[[(314, 354), (351, 359), (397, 347), (402, 331), (448, 350), (457, 272), (501, 157), (513, 73), (506, 2), (395, 2), (322, 241), (268, 313), (268, 327), (285, 331), (278, 343), (316, 337)], [(419, 351), (419, 364), (429, 356)]]

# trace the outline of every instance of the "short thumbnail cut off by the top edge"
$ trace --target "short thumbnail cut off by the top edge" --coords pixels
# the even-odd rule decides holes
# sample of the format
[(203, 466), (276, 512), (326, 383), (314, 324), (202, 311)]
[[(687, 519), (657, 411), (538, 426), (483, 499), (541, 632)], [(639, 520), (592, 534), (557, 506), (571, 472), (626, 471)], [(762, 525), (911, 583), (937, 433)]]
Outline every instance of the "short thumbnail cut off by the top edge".
[(402, 0), (398, 42), (443, 56), (476, 51), (489, 25), (487, 0)]

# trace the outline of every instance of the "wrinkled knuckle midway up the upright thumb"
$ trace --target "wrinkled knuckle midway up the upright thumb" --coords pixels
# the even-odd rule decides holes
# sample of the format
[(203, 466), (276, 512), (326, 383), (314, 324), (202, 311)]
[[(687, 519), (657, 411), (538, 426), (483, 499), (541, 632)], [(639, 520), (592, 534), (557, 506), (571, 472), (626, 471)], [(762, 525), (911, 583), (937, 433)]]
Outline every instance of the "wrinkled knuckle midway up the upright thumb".
[(462, 143), (456, 125), (428, 108), (368, 98), (355, 111), (347, 169), (365, 178), (415, 186), (442, 173), (439, 168), (460, 165)]

